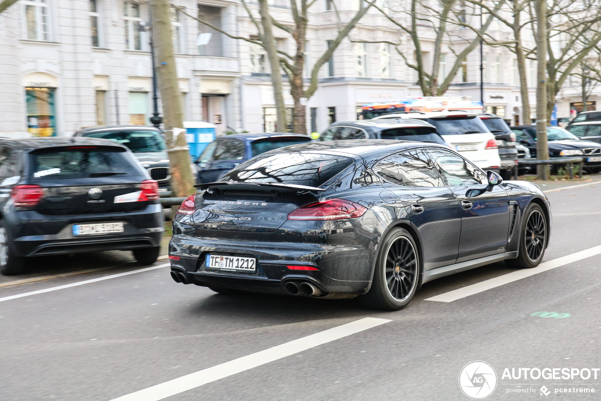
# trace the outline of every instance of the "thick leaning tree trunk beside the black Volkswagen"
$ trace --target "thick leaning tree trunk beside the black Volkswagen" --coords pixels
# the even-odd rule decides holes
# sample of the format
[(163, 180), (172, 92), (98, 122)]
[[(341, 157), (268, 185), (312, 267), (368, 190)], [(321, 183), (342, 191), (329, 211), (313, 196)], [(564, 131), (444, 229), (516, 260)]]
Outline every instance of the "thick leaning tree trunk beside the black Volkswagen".
[(171, 8), (168, 0), (151, 0), (152, 34), (156, 54), (156, 73), (163, 105), (165, 138), (167, 141), (171, 191), (174, 197), (187, 197), (196, 192), (185, 131), (183, 108), (175, 68)]

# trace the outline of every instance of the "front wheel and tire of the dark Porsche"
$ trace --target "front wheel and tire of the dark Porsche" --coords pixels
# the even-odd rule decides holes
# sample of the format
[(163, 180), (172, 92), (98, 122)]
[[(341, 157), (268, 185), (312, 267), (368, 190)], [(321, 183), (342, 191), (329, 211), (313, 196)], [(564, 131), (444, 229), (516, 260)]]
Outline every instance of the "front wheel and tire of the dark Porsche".
[(505, 263), (512, 268), (531, 269), (538, 266), (545, 256), (548, 242), (548, 222), (545, 212), (536, 203), (526, 207), (522, 228), (520, 228), (519, 256), (506, 259)]

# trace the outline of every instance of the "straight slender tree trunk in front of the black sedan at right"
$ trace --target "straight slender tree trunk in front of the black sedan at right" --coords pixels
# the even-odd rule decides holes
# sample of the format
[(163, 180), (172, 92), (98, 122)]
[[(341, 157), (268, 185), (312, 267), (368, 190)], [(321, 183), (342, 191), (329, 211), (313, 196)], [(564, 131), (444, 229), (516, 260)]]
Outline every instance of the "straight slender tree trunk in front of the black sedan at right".
[[(537, 85), (536, 85), (536, 158), (549, 159), (547, 143), (548, 98), (547, 98), (547, 10), (546, 0), (536, 0), (537, 36)], [(537, 165), (537, 178), (549, 177), (549, 166)]]

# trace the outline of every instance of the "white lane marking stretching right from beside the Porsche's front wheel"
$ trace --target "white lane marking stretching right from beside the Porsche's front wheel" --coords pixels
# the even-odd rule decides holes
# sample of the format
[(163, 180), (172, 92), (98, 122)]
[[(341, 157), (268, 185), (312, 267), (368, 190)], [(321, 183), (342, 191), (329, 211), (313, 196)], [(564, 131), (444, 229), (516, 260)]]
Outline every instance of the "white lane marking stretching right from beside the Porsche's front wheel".
[(430, 298), (424, 299), (424, 301), (457, 301), (457, 299), (465, 298), (466, 296), (474, 295), (495, 287), (503, 286), (504, 284), (511, 283), (512, 281), (522, 280), (522, 278), (546, 272), (548, 270), (567, 265), (568, 263), (576, 262), (578, 260), (586, 259), (587, 257), (595, 256), (598, 254), (601, 254), (601, 245), (594, 246), (593, 248), (588, 248), (584, 251), (576, 252), (571, 255), (558, 257), (554, 260), (549, 260), (549, 262), (541, 263), (540, 265), (532, 269), (517, 270), (499, 277), (491, 278), (490, 280), (484, 280), (480, 283), (472, 284), (471, 286), (462, 287), (460, 289), (456, 289), (450, 292), (445, 292), (441, 295), (432, 296)]

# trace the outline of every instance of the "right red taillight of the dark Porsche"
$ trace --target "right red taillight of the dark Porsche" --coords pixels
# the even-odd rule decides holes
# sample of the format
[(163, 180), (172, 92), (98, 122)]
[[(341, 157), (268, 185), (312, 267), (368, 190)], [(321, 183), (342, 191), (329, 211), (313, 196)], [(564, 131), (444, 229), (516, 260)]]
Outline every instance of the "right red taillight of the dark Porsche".
[(288, 220), (337, 220), (362, 216), (367, 208), (346, 199), (328, 199), (305, 204), (288, 213)]

